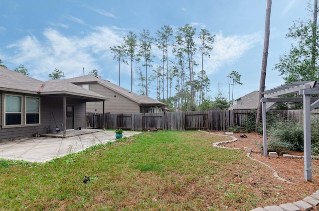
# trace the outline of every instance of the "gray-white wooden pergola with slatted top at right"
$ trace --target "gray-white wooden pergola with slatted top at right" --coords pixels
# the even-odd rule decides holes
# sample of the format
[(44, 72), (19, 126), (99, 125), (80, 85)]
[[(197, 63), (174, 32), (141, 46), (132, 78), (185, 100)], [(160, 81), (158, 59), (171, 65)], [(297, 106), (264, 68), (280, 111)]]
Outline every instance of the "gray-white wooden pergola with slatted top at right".
[[(262, 103), (263, 120), (263, 147), (264, 156), (267, 157), (267, 130), (266, 130), (266, 112), (280, 102), (303, 102), (304, 108), (304, 172), (305, 180), (312, 180), (311, 167), (311, 111), (319, 106), (319, 98), (311, 98), (311, 95), (319, 95), (319, 84), (317, 81), (292, 82), (267, 90), (262, 93), (264, 98)], [(280, 98), (284, 94), (299, 94), (299, 98)], [(275, 104), (266, 107), (267, 102)]]

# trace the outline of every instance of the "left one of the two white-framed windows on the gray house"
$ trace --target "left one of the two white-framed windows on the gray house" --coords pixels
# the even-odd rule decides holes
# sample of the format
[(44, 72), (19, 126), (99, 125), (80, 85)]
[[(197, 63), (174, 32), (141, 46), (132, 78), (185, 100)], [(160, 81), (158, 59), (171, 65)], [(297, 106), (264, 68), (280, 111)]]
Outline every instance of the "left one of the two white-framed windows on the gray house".
[(5, 125), (22, 124), (22, 97), (15, 95), (5, 95)]

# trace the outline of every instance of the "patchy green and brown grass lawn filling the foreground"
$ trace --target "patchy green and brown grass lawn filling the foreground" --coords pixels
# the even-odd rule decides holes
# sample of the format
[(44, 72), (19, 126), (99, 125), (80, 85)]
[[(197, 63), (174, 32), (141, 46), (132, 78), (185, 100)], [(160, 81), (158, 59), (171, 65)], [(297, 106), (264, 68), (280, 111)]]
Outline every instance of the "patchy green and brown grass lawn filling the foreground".
[(0, 208), (252, 210), (309, 194), (274, 179), (242, 151), (213, 148), (220, 140), (227, 137), (144, 132), (44, 164), (0, 160)]

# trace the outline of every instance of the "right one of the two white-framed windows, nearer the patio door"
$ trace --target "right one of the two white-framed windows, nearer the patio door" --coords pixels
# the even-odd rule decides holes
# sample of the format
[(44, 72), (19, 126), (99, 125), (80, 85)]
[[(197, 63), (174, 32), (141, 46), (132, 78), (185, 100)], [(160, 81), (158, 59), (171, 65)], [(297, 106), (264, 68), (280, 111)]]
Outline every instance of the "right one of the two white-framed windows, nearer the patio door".
[(39, 117), (39, 99), (25, 97), (25, 123), (38, 124)]

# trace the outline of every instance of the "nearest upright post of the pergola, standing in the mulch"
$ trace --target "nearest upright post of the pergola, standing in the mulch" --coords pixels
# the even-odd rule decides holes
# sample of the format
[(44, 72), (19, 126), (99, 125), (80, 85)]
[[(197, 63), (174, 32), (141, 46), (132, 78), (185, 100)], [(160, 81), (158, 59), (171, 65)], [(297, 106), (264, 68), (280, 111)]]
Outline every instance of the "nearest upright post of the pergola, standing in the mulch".
[[(305, 89), (310, 88), (309, 85), (305, 85)], [(312, 180), (311, 169), (311, 107), (310, 107), (310, 95), (304, 94), (304, 171), (305, 180)]]

